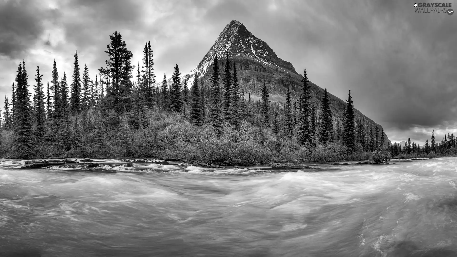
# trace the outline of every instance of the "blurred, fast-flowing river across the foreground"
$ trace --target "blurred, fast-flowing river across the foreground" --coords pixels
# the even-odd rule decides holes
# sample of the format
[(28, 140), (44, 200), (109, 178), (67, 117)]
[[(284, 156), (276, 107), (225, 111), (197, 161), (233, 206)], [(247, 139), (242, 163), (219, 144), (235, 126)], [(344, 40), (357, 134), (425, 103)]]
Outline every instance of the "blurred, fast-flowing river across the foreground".
[(263, 172), (95, 161), (0, 160), (1, 257), (457, 256), (457, 158)]

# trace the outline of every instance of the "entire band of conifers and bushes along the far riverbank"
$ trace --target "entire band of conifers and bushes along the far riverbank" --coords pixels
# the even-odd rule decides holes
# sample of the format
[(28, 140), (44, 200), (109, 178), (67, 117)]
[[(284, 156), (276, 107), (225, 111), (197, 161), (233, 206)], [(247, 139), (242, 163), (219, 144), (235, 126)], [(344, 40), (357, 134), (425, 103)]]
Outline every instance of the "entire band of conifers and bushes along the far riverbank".
[[(108, 39), (108, 38), (107, 38)], [(1, 154), (4, 158), (181, 158), (193, 164), (253, 164), (268, 161), (362, 161), (456, 155), (456, 139), (434, 134), (425, 143), (384, 147), (383, 129), (365, 127), (354, 115), (351, 91), (341, 123), (335, 123), (329, 96), (309, 97), (308, 74), (298, 99), (270, 102), (265, 81), (261, 98), (251, 99), (237, 76), (237, 63), (217, 57), (211, 83), (199, 74), (181, 81), (178, 64), (154, 74), (151, 43), (142, 63), (119, 32), (109, 36), (105, 65), (89, 71), (74, 52), (73, 71), (52, 74), (17, 65), (11, 97), (5, 96)], [(50, 64), (51, 65), (51, 64)], [(168, 85), (170, 84), (170, 85)], [(31, 87), (32, 85), (32, 87)], [(33, 90), (30, 90), (33, 88)], [(356, 103), (356, 101), (355, 101)]]

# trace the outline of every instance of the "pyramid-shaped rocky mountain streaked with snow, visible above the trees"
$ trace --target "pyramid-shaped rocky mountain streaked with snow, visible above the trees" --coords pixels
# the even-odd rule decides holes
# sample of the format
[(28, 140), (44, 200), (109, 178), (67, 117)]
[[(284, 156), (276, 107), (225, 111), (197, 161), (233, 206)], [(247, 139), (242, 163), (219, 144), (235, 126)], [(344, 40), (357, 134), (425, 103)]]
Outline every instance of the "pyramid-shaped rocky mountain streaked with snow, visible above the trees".
[[(263, 81), (266, 81), (270, 88), (270, 101), (285, 101), (287, 88), (291, 91), (292, 99), (298, 99), (303, 76), (297, 73), (291, 63), (279, 58), (267, 43), (255, 37), (242, 23), (235, 20), (225, 26), (197, 67), (183, 76), (183, 81), (187, 80), (190, 87), (194, 74), (197, 74), (198, 77), (203, 76), (205, 85), (209, 85), (214, 57), (218, 57), (219, 68), (223, 69), (227, 52), (230, 62), (237, 67), (239, 81), (244, 85), (246, 96), (250, 94), (251, 98), (260, 98), (260, 88), (263, 86)], [(320, 107), (324, 89), (311, 81), (309, 83), (311, 99), (317, 107)], [(346, 102), (330, 92), (329, 97), (334, 120), (341, 121)], [(366, 127), (378, 125), (381, 130), (381, 125), (376, 124), (357, 109), (355, 109), (355, 113), (356, 119), (361, 119)], [(386, 139), (385, 146), (391, 144), (385, 133), (384, 138)]]

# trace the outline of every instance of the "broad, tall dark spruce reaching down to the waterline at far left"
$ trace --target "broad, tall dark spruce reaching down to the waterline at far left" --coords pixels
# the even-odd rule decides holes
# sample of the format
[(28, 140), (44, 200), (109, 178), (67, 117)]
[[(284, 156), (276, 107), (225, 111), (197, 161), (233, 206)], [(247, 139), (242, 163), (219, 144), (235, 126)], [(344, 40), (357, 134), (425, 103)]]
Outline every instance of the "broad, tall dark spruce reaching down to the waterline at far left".
[(35, 139), (33, 137), (32, 113), (30, 92), (28, 91), (28, 75), (24, 61), (19, 63), (16, 75), (16, 102), (15, 102), (15, 153), (19, 159), (29, 159), (35, 152)]

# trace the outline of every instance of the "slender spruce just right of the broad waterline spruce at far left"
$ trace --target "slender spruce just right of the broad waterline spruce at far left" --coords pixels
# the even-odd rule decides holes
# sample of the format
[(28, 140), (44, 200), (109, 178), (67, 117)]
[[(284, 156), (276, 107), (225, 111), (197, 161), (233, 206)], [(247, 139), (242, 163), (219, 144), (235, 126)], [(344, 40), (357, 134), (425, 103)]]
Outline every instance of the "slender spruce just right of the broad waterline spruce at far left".
[(46, 133), (46, 111), (44, 108), (44, 93), (43, 93), (43, 74), (40, 74), (40, 67), (37, 66), (37, 75), (35, 75), (35, 95), (36, 95), (36, 111), (34, 113), (35, 121), (35, 140), (37, 143), (41, 143)]

